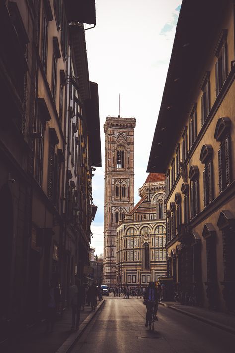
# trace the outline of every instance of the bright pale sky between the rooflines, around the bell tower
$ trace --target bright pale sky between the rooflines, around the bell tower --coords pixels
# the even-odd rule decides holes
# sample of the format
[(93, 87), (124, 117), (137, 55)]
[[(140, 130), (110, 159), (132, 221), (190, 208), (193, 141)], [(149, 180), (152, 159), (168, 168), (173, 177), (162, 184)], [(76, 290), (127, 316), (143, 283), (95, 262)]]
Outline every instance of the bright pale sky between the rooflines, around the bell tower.
[[(147, 164), (167, 76), (181, 0), (96, 0), (96, 27), (87, 30), (90, 80), (98, 83), (102, 168), (92, 179), (91, 246), (103, 253), (104, 165), (107, 116), (135, 117), (134, 202), (147, 178)], [(88, 25), (86, 27), (89, 27)]]

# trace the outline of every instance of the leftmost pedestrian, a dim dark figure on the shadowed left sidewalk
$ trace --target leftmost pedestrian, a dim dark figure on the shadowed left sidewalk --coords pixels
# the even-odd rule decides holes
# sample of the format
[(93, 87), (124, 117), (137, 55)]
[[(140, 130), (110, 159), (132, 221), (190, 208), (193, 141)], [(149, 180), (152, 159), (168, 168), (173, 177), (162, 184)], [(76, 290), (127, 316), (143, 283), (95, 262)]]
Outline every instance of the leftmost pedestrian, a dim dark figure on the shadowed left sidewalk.
[(53, 273), (48, 287), (48, 299), (46, 308), (46, 332), (53, 332), (53, 327), (56, 321), (56, 312), (60, 302), (60, 296), (61, 293), (58, 275), (56, 273)]

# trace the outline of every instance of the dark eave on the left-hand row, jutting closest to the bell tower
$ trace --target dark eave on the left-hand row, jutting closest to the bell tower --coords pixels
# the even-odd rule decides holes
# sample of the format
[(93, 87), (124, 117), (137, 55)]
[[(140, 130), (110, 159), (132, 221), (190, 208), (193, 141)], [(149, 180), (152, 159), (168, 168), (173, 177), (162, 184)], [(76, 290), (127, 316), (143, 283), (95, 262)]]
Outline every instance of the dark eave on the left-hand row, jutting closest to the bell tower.
[(85, 100), (84, 107), (87, 119), (91, 165), (94, 167), (101, 167), (98, 84), (95, 82), (90, 82), (90, 91), (91, 98)]

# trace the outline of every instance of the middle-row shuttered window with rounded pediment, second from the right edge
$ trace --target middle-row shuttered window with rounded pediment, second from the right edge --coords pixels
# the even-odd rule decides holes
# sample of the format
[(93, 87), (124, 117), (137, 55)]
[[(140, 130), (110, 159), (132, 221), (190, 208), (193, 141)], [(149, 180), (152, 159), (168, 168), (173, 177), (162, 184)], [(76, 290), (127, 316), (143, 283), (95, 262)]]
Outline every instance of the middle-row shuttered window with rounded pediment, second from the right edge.
[(202, 147), (200, 161), (205, 164), (203, 170), (203, 193), (204, 207), (209, 205), (213, 200), (213, 169), (212, 169), (212, 153), (211, 145), (207, 144)]

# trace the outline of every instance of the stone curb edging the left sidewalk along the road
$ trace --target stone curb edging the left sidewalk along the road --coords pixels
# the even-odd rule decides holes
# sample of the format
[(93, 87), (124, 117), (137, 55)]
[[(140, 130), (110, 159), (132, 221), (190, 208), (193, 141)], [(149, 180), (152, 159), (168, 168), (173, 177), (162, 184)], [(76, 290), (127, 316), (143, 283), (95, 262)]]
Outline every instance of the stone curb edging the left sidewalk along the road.
[(59, 347), (55, 353), (69, 353), (79, 337), (85, 331), (88, 324), (91, 322), (96, 313), (100, 310), (101, 306), (104, 304), (105, 300), (103, 299), (96, 307), (96, 311), (91, 312), (87, 318), (79, 325), (79, 330), (71, 333), (71, 335), (64, 341), (64, 343)]

